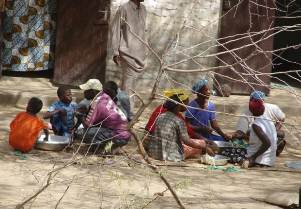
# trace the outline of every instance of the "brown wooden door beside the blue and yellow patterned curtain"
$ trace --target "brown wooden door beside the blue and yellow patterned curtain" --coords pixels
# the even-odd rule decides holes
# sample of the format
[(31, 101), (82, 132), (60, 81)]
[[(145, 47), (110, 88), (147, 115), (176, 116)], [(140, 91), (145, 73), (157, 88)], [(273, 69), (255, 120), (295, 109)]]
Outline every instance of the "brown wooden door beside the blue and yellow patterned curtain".
[(110, 0), (59, 0), (54, 83), (105, 82)]

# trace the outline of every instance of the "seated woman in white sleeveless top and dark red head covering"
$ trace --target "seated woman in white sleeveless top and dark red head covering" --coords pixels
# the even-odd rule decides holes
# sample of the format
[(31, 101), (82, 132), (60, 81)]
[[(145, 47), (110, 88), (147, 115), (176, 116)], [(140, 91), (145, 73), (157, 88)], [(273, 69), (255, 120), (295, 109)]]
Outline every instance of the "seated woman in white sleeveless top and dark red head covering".
[(263, 116), (265, 106), (260, 99), (252, 99), (249, 109), (254, 119), (251, 125), (250, 146), (247, 148), (237, 148), (223, 151), (222, 154), (230, 157), (234, 163), (242, 165), (244, 168), (252, 166), (273, 166), (276, 159), (277, 132), (273, 122)]

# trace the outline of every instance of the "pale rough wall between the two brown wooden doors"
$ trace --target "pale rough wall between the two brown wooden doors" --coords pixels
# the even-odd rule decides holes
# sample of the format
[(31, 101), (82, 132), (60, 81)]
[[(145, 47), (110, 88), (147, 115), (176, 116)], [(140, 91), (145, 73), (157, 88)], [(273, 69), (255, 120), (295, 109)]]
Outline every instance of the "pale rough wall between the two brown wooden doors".
[[(110, 21), (114, 18), (118, 7), (125, 2), (127, 0), (111, 0)], [(214, 39), (218, 36), (220, 0), (145, 0), (143, 4), (148, 12), (149, 46), (161, 59), (166, 51), (163, 58), (165, 65), (173, 64), (199, 53), (208, 55), (218, 52), (218, 49), (212, 46), (215, 45)], [(188, 28), (183, 28), (183, 26)], [(177, 41), (173, 41), (175, 34), (178, 34)], [(108, 47), (106, 80), (114, 80), (120, 85), (121, 68), (115, 65), (112, 60), (110, 41)], [(153, 87), (157, 77), (159, 62), (151, 53), (149, 53), (147, 65), (147, 69), (138, 74), (137, 85), (140, 87)], [(216, 59), (205, 57), (182, 63), (173, 68), (192, 70), (214, 66), (216, 66)], [(191, 88), (193, 83), (204, 75), (210, 79), (210, 76), (204, 72), (167, 72), (161, 79), (159, 87)]]

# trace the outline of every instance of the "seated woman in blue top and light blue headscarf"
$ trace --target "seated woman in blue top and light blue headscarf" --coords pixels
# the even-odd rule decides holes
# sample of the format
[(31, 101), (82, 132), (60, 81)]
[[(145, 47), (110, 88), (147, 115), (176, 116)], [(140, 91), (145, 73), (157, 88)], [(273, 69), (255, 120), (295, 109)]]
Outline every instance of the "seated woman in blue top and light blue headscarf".
[[(198, 82), (195, 82), (192, 87), (192, 93), (196, 93), (197, 98), (190, 102), (188, 106), (194, 108), (188, 108), (185, 114), (185, 120), (190, 124), (191, 129), (210, 140), (229, 140), (228, 137), (225, 139), (225, 133), (222, 132), (220, 126), (216, 122), (214, 104), (208, 101), (210, 97), (208, 81), (203, 78)], [(220, 136), (212, 134), (213, 130)]]

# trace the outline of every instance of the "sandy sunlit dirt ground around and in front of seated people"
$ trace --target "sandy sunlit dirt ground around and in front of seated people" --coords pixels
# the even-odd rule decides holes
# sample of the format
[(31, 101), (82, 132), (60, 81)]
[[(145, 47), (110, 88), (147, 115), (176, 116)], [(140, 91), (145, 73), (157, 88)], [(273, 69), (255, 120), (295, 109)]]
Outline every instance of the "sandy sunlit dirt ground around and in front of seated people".
[[(5, 88), (13, 86), (6, 85)], [(5, 94), (3, 90), (1, 93)], [(49, 186), (29, 201), (25, 209), (138, 209), (149, 201), (152, 201), (147, 206), (149, 209), (178, 208), (172, 194), (164, 192), (166, 185), (144, 162), (143, 165), (120, 163), (113, 166), (90, 164), (89, 161), (75, 164), (72, 163), (72, 156), (63, 161), (60, 154), (54, 158), (50, 153), (44, 153), (48, 158), (29, 154), (28, 160), (19, 159), (7, 147), (9, 123), (16, 113), (25, 109), (24, 102), (17, 104), (0, 104), (0, 209), (15, 209), (45, 187), (47, 180)], [(46, 107), (40, 116), (45, 110)], [(137, 126), (146, 122), (148, 114), (141, 116)], [(290, 154), (286, 156), (300, 159), (299, 116), (286, 116), (286, 121), (297, 127), (289, 129), (292, 126), (286, 126), (288, 148), (285, 152)], [(238, 118), (220, 114), (217, 117), (224, 132), (235, 130)], [(292, 130), (292, 134), (288, 130)], [(137, 131), (141, 132), (138, 128)], [(132, 150), (133, 153), (137, 152), (135, 147)], [(117, 158), (119, 161), (126, 160)], [(280, 157), (277, 160), (283, 159)], [(227, 166), (230, 165), (228, 163)], [(301, 170), (295, 169), (245, 170), (244, 173), (236, 173), (208, 171), (204, 166), (166, 164), (159, 168), (173, 186), (186, 182), (187, 187), (184, 185), (176, 192), (187, 209), (278, 209), (278, 206), (265, 203), (264, 198), (273, 192), (299, 193), (301, 187)], [(164, 192), (163, 196), (158, 195), (161, 192)]]

